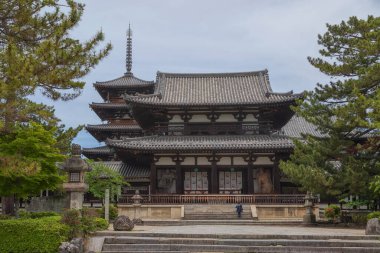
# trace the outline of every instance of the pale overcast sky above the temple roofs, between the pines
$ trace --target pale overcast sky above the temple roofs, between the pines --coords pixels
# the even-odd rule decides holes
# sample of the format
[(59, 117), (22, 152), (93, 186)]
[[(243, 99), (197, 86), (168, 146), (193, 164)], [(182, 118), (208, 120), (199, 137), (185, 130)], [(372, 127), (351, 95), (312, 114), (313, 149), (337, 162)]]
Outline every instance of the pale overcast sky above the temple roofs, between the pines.
[[(376, 0), (88, 0), (73, 36), (86, 40), (100, 29), (113, 50), (85, 78), (83, 94), (56, 102), (67, 126), (100, 124), (89, 108), (102, 102), (93, 88), (125, 73), (128, 23), (133, 30), (135, 76), (154, 80), (162, 72), (242, 72), (268, 69), (274, 91), (311, 90), (326, 77), (307, 56), (318, 56), (317, 35), (326, 23), (350, 16), (379, 16)], [(42, 100), (46, 102), (46, 100)], [(83, 131), (83, 147), (99, 146)]]

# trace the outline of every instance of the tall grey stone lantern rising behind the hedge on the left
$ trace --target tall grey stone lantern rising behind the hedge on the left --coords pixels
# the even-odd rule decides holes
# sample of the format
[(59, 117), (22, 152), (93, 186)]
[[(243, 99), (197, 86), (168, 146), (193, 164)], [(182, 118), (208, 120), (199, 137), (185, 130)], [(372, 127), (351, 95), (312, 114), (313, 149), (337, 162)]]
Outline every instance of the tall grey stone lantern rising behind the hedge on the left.
[(84, 193), (88, 190), (88, 185), (84, 182), (84, 173), (91, 169), (81, 158), (80, 145), (73, 144), (71, 146), (71, 157), (63, 163), (62, 169), (68, 174), (68, 180), (63, 183), (63, 189), (70, 195), (69, 208), (81, 209)]

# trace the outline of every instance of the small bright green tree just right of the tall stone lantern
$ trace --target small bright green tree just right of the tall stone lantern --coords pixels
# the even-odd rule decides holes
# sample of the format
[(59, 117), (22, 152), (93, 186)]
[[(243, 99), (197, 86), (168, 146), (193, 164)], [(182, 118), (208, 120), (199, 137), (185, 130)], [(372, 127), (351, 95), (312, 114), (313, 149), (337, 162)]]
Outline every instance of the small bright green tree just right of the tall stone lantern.
[(111, 199), (120, 192), (122, 185), (129, 185), (123, 176), (101, 162), (89, 161), (92, 170), (85, 174), (85, 182), (89, 185), (89, 191), (97, 198), (104, 199), (106, 189), (110, 189)]

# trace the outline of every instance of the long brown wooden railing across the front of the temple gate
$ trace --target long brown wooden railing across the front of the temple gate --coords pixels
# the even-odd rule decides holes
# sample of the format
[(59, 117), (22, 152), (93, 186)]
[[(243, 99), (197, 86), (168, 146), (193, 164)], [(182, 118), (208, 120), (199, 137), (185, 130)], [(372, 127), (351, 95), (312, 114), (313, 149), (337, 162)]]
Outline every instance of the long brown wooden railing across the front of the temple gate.
[[(122, 195), (119, 198), (120, 204), (132, 204), (133, 195)], [(297, 194), (255, 194), (255, 195), (141, 195), (143, 204), (294, 204), (300, 205), (305, 203), (305, 195)], [(318, 202), (315, 197), (314, 203)]]

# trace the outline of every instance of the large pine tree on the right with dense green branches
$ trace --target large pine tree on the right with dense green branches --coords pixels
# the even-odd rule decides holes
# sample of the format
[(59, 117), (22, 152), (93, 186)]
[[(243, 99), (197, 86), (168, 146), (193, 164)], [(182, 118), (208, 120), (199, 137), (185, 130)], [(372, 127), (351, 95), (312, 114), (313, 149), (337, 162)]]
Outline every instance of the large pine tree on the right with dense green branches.
[[(380, 189), (380, 17), (356, 17), (327, 25), (318, 36), (320, 58), (309, 62), (331, 77), (307, 92), (296, 113), (317, 126), (324, 138), (295, 141), (284, 173), (304, 190), (330, 196), (373, 199)], [(377, 180), (380, 180), (378, 177)], [(380, 193), (380, 190), (376, 190)]]

